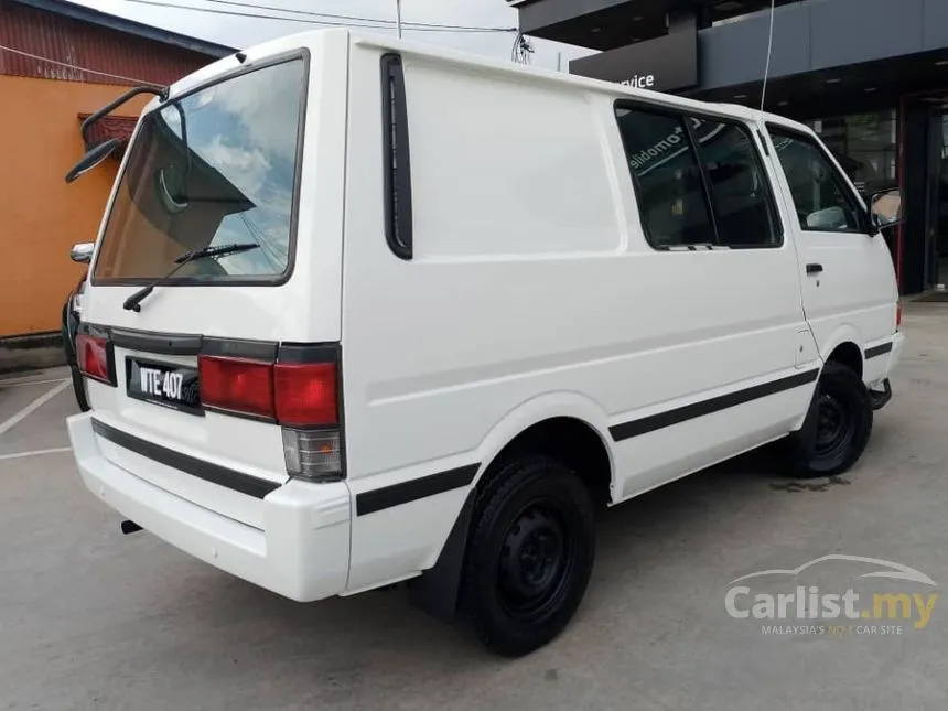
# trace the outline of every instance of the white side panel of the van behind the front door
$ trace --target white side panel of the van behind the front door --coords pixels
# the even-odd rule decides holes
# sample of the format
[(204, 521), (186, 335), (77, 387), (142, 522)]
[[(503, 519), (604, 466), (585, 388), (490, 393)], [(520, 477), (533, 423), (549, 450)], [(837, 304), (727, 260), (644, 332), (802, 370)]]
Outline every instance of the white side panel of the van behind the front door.
[[(383, 161), (373, 108), (380, 112), (380, 89), (370, 80), (380, 56), (356, 45), (351, 61), (351, 100), (365, 108), (349, 114), (344, 257), (346, 454), (356, 496), (481, 462), (496, 423), (550, 392), (581, 394), (612, 427), (808, 365), (798, 363), (807, 326), (793, 240), (773, 249), (650, 247), (629, 171), (615, 159), (623, 153), (612, 99), (594, 93), (403, 57), (419, 197), (414, 256), (395, 258), (378, 237), (380, 206), (365, 207), (380, 180), (354, 170)], [(534, 120), (510, 123), (511, 112)], [(786, 434), (812, 388), (811, 380), (608, 442), (613, 500)], [(392, 526), (384, 540), (365, 532), (381, 514), (354, 518), (353, 580), (430, 564), (464, 500), (431, 498), (403, 507), (438, 531), (427, 543)], [(442, 517), (445, 508), (452, 515)], [(373, 546), (358, 545), (368, 539)]]

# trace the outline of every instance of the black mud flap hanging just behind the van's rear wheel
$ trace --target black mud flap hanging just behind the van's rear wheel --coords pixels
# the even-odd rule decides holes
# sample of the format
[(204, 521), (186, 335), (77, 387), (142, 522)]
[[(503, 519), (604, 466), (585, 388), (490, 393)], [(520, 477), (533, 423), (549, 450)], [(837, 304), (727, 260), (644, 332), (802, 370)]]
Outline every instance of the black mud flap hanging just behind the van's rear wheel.
[(475, 489), (467, 493), (464, 506), (451, 527), (444, 548), (432, 568), (425, 570), (409, 585), (411, 604), (441, 622), (452, 622), (457, 614), (461, 573), (467, 549), (467, 532), (474, 510)]

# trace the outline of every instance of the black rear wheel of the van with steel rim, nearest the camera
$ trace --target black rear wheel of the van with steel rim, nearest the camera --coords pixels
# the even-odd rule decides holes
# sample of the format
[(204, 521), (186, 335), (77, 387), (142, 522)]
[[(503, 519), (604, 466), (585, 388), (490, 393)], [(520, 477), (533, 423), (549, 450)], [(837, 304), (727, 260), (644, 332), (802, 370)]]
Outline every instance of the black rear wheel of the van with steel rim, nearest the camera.
[(462, 605), (481, 643), (519, 657), (552, 640), (585, 593), (595, 554), (589, 491), (560, 462), (513, 459), (480, 492)]

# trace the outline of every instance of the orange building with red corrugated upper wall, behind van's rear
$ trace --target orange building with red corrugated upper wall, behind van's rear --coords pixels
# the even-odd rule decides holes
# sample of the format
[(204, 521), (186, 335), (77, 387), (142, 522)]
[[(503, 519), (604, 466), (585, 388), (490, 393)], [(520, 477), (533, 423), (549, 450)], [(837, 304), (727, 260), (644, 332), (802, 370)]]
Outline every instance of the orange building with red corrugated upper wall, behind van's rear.
[[(140, 83), (169, 84), (233, 50), (62, 0), (0, 0), (0, 338), (57, 331), (118, 170), (66, 184), (82, 120)], [(83, 67), (83, 68), (77, 68)], [(139, 98), (91, 137), (128, 141)]]

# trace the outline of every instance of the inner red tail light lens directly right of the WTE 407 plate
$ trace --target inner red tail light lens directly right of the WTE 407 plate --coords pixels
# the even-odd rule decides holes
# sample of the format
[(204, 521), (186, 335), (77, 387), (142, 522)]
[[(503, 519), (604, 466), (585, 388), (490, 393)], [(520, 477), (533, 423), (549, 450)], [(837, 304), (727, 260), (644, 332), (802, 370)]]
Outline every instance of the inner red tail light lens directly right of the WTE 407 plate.
[(201, 356), (197, 371), (202, 405), (267, 419), (276, 418), (271, 363)]

